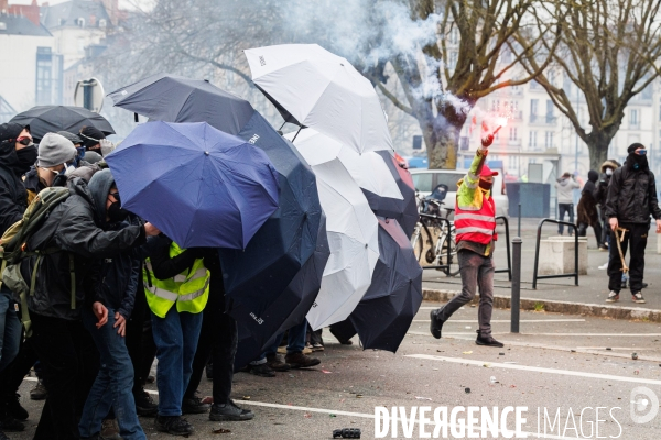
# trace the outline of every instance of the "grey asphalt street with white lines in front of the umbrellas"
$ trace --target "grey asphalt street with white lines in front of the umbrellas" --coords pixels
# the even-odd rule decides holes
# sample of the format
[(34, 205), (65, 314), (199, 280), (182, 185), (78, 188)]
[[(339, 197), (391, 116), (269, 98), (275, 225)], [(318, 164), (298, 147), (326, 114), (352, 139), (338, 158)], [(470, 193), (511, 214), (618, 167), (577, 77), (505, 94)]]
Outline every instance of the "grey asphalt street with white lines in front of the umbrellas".
[[(325, 332), (326, 351), (317, 353), (322, 364), (316, 369), (279, 373), (275, 378), (237, 374), (234, 398), (243, 400), (241, 405), (250, 407), (256, 419), (217, 424), (205, 416), (188, 417), (197, 429), (194, 438), (329, 439), (333, 429), (351, 427), (360, 428), (364, 439), (371, 439), (376, 406), (401, 406), (407, 414), (413, 406), (527, 406), (523, 430), (533, 433), (538, 431), (538, 408), (542, 408), (542, 419), (543, 408), (551, 419), (560, 408), (560, 436), (556, 425), (554, 436), (546, 427), (545, 438), (563, 438), (565, 425), (570, 428), (566, 438), (575, 438), (572, 419), (578, 428), (585, 407), (619, 407), (622, 409), (614, 410), (619, 425), (602, 410), (599, 419), (608, 421), (599, 422), (599, 436), (617, 437), (621, 426), (620, 439), (660, 438), (661, 415), (644, 425), (633, 424), (629, 416), (635, 387), (647, 386), (661, 396), (660, 324), (522, 312), (521, 333), (511, 334), (509, 311), (496, 310), (494, 333), (507, 346), (491, 349), (475, 345), (477, 310), (470, 307), (459, 310), (445, 326), (444, 339), (431, 338), (429, 311), (436, 306), (423, 304), (397, 354), (339, 345)], [(639, 355), (637, 361), (631, 359), (633, 352)], [(32, 385), (24, 382), (24, 396)], [(210, 382), (205, 381), (201, 392), (210, 395)], [(31, 438), (41, 409), (40, 403), (22, 402), (32, 417), (26, 432), (10, 435), (17, 440)], [(588, 437), (595, 411), (587, 409), (583, 416)], [(170, 438), (155, 432), (152, 420), (142, 422), (148, 438)], [(513, 429), (511, 420), (508, 426)], [(218, 428), (231, 432), (212, 432)], [(401, 426), (398, 433), (404, 438)], [(418, 430), (413, 438), (419, 438)]]

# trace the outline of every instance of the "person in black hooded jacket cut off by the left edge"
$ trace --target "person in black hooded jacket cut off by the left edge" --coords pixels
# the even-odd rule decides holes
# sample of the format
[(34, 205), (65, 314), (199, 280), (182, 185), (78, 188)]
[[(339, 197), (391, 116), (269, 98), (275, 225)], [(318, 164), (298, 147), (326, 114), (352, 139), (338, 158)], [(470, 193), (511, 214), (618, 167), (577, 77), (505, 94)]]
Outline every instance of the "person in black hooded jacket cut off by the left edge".
[[(28, 191), (21, 176), (36, 161), (30, 127), (18, 123), (0, 124), (0, 237), (23, 218), (28, 208)], [(21, 321), (11, 290), (0, 283), (0, 372), (19, 352)], [(3, 417), (2, 425), (7, 420)], [(0, 440), (7, 437), (0, 430)]]

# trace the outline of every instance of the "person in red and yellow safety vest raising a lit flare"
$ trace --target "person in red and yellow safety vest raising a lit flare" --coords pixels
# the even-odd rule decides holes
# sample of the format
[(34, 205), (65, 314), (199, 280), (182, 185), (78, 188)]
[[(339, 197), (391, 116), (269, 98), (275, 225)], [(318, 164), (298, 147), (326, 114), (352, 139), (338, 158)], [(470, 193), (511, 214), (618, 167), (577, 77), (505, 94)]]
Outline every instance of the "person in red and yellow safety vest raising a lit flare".
[(485, 164), (488, 147), (494, 142), (494, 134), (481, 141), (470, 169), (458, 182), (455, 204), (455, 229), (457, 258), (462, 275), (462, 294), (452, 298), (444, 307), (432, 310), (430, 331), (441, 339), (443, 323), (462, 306), (469, 302), (479, 286), (479, 309), (477, 339), (478, 345), (503, 346), (491, 337), (491, 314), (494, 311), (494, 242), (496, 234), (496, 204), (491, 197), (494, 176)]

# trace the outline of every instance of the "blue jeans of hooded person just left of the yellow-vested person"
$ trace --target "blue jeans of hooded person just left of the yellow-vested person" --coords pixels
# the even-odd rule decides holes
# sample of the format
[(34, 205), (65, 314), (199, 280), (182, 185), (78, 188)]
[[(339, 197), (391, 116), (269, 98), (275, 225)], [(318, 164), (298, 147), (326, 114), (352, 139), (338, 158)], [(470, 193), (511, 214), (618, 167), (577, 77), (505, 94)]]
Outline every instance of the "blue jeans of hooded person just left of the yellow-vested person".
[(133, 365), (124, 338), (117, 334), (115, 310), (108, 309), (108, 322), (100, 329), (96, 328), (98, 320), (90, 309), (83, 309), (83, 324), (91, 334), (99, 351), (100, 367), (78, 424), (80, 437), (91, 437), (101, 430), (101, 421), (112, 407), (119, 433), (124, 440), (147, 439), (133, 400)]

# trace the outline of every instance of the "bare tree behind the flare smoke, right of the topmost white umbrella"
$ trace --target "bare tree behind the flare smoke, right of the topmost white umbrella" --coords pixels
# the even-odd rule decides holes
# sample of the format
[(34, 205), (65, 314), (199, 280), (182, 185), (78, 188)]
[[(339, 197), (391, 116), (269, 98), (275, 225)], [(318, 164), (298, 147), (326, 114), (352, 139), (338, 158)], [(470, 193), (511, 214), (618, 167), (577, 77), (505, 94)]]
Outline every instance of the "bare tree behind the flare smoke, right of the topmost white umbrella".
[[(387, 59), (397, 72), (407, 102), (388, 90), (379, 72), (372, 69), (371, 78), (399, 109), (418, 120), (430, 168), (456, 167), (459, 132), (480, 98), (503, 87), (528, 82), (546, 67), (551, 58), (548, 54), (554, 50), (554, 44), (549, 44), (554, 40), (549, 37), (552, 23), (545, 24), (538, 38), (512, 44), (535, 3), (527, 0), (409, 1), (413, 20), (440, 15), (440, 38), (420, 47), (419, 54), (394, 54)], [(452, 42), (447, 36), (453, 30), (458, 32), (459, 38), (451, 56)], [(542, 44), (544, 38), (546, 46)], [(505, 63), (500, 58), (503, 50), (512, 54)], [(512, 79), (511, 69), (532, 53), (546, 61), (531, 68), (525, 77)]]

